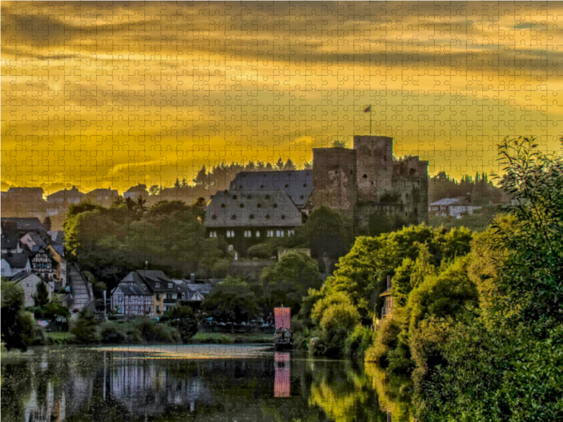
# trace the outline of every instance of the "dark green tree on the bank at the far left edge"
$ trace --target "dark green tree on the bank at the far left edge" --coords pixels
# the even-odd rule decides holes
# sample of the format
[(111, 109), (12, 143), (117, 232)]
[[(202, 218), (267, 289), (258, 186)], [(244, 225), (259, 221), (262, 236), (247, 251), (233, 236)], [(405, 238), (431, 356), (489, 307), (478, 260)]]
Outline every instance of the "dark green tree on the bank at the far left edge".
[(1, 335), (6, 349), (27, 350), (32, 345), (35, 334), (31, 316), (25, 314), (25, 293), (23, 288), (2, 279), (1, 288)]

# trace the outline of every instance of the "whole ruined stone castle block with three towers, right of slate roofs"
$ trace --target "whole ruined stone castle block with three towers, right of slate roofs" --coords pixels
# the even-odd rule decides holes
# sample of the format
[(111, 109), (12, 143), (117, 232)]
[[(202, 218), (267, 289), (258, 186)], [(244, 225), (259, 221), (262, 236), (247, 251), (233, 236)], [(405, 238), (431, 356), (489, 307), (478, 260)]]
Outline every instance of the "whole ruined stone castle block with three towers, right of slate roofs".
[(393, 138), (354, 136), (354, 148), (313, 148), (310, 207), (428, 223), (428, 161), (393, 158)]

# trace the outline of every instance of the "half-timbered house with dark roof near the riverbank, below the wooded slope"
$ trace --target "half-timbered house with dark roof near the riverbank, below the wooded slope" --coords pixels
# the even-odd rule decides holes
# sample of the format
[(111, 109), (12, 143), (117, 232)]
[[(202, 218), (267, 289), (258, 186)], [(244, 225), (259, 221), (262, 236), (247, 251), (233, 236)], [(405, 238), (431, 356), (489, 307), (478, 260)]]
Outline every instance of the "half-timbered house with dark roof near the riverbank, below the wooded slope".
[(160, 270), (132, 271), (111, 292), (118, 314), (160, 316), (176, 304), (175, 283)]

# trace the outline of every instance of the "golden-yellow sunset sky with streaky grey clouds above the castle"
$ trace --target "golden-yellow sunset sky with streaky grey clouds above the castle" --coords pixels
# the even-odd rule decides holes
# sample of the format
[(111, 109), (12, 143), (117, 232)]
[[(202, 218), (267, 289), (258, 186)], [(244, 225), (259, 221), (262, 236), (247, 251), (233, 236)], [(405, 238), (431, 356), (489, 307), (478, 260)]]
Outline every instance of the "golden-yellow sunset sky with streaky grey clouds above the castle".
[(563, 134), (561, 2), (1, 2), (1, 181), (170, 186), (369, 133), (490, 172)]

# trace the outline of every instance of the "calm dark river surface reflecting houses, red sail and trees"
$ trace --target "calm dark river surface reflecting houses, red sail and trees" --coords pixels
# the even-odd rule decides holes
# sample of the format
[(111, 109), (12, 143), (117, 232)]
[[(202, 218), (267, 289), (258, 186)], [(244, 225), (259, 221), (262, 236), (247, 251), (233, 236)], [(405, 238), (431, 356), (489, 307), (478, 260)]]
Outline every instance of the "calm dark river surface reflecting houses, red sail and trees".
[(262, 346), (39, 348), (1, 359), (2, 421), (410, 421), (375, 366)]

